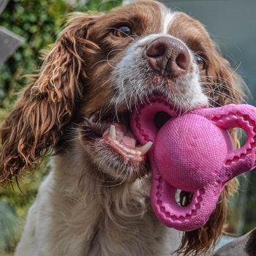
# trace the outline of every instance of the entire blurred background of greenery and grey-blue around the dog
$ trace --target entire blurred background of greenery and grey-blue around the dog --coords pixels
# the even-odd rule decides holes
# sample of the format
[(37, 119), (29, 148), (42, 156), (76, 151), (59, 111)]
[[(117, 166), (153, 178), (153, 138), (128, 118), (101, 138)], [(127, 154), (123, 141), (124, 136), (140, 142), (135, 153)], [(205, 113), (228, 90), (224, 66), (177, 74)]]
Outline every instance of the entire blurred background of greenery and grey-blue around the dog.
[[(54, 42), (73, 11), (105, 11), (121, 0), (0, 0), (0, 121), (12, 109), (18, 91), (26, 84), (23, 75), (33, 74), (40, 51)], [(126, 1), (127, 2), (127, 1)], [(202, 21), (225, 58), (244, 78), (255, 104), (256, 94), (256, 1), (176, 0), (163, 1), (172, 9)], [(23, 230), (26, 213), (37, 187), (48, 173), (48, 159), (33, 175), (13, 187), (0, 189), (0, 255), (12, 255)], [(229, 203), (227, 232), (241, 236), (256, 227), (256, 171), (239, 177), (240, 189)]]

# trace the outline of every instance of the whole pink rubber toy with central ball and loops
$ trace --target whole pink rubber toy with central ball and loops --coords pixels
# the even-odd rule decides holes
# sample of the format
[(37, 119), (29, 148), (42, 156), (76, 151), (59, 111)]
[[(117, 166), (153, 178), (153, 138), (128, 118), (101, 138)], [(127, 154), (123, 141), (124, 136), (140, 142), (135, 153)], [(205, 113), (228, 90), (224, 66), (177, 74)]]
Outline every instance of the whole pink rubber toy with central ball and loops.
[[(154, 118), (165, 112), (170, 118), (157, 129)], [(195, 230), (214, 211), (225, 183), (255, 167), (256, 108), (226, 105), (200, 108), (177, 115), (160, 97), (132, 113), (132, 130), (141, 144), (148, 140), (152, 170), (151, 204), (168, 227)], [(247, 134), (244, 146), (234, 150), (227, 129), (240, 127)], [(189, 206), (176, 203), (176, 189), (192, 192)]]

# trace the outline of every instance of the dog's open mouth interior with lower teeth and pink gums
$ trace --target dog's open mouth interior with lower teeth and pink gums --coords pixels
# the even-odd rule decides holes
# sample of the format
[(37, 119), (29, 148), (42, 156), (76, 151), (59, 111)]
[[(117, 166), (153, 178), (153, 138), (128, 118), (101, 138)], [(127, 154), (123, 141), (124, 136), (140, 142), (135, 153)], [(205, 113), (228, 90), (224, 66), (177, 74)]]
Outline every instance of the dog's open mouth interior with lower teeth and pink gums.
[[(103, 140), (123, 159), (132, 163), (140, 163), (145, 160), (146, 153), (153, 143), (149, 139), (143, 145), (138, 142), (129, 124), (130, 114), (129, 110), (118, 114), (109, 113), (107, 117), (94, 113), (90, 118), (86, 118), (86, 130), (89, 129), (91, 138)], [(155, 128), (160, 129), (171, 116), (160, 111), (154, 113), (152, 118), (154, 118)]]

